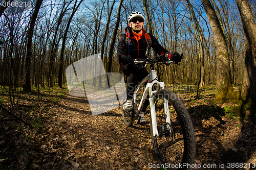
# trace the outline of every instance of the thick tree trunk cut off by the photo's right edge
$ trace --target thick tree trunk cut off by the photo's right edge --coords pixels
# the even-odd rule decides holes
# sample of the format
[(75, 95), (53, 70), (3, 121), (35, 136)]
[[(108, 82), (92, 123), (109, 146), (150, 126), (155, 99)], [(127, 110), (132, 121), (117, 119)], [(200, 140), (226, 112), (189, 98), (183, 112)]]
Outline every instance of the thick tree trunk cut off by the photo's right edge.
[[(245, 69), (241, 89), (241, 111), (256, 110), (256, 24), (250, 9), (249, 1), (236, 0), (245, 33)], [(247, 107), (246, 107), (247, 106)]]

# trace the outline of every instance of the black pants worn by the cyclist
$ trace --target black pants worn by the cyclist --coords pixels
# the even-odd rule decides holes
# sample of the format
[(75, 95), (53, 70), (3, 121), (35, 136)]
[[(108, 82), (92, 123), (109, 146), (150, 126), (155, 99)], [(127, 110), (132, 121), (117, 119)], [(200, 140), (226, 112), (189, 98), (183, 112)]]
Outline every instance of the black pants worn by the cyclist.
[[(138, 85), (139, 82), (143, 80), (149, 73), (147, 72), (145, 67), (142, 67), (141, 65), (133, 64), (133, 63), (122, 65), (121, 68), (124, 75), (129, 77), (127, 80), (127, 86), (126, 86), (127, 100), (132, 100), (136, 85)], [(148, 104), (149, 104), (149, 101), (146, 100), (144, 102), (144, 107), (142, 108), (143, 112), (145, 111)]]

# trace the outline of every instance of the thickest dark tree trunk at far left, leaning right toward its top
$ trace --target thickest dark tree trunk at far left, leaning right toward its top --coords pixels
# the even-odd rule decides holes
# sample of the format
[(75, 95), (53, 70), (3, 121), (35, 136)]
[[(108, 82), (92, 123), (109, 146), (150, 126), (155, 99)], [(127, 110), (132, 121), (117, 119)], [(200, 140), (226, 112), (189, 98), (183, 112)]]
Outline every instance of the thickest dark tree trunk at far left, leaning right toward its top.
[(36, 21), (37, 14), (39, 12), (41, 4), (42, 4), (42, 0), (38, 0), (36, 2), (35, 10), (33, 12), (31, 22), (30, 22), (30, 27), (28, 30), (27, 56), (26, 56), (26, 61), (25, 61), (25, 68), (26, 68), (25, 85), (24, 85), (25, 92), (31, 91), (30, 65), (31, 65), (31, 56), (32, 56), (32, 38), (33, 38), (33, 31), (34, 31), (34, 27), (35, 27), (35, 21)]

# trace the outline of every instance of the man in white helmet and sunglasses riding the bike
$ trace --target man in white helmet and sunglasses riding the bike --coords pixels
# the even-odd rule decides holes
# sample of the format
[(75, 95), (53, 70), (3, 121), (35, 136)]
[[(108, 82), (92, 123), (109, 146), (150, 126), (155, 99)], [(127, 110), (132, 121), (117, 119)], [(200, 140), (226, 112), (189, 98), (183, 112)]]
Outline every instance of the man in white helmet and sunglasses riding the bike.
[[(157, 39), (152, 34), (147, 34), (144, 27), (145, 18), (140, 12), (132, 12), (129, 15), (129, 26), (125, 28), (125, 33), (118, 40), (117, 59), (121, 64), (121, 69), (124, 75), (128, 78), (126, 86), (127, 99), (123, 104), (123, 110), (131, 111), (133, 109), (132, 100), (135, 86), (148, 75), (148, 72), (143, 64), (134, 64), (136, 58), (146, 59), (147, 52), (152, 47), (158, 55), (168, 54), (168, 58), (174, 62), (180, 62), (181, 56), (178, 53), (170, 53), (162, 47)], [(151, 44), (150, 44), (151, 42)], [(139, 115), (139, 124), (145, 125), (144, 111), (142, 108)]]

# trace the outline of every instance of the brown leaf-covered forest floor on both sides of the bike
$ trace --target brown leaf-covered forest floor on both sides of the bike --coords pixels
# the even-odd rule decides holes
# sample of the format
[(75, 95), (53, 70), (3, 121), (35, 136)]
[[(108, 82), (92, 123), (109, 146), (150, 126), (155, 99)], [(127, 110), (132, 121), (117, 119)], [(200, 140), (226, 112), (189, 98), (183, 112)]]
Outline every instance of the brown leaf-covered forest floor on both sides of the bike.
[[(209, 86), (197, 100), (187, 92), (183, 100), (195, 127), (195, 164), (208, 167), (193, 169), (255, 169), (255, 119), (236, 115), (235, 104), (214, 104), (215, 91)], [(126, 127), (120, 107), (93, 116), (88, 101), (67, 88), (41, 90), (39, 99), (35, 91), (19, 94), (17, 109), (3, 89), (0, 96), (3, 107), (33, 126), (0, 121), (0, 169), (150, 169), (157, 163), (150, 123)], [(12, 117), (0, 109), (3, 118)]]

